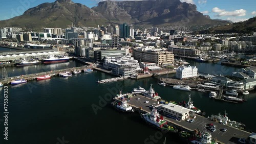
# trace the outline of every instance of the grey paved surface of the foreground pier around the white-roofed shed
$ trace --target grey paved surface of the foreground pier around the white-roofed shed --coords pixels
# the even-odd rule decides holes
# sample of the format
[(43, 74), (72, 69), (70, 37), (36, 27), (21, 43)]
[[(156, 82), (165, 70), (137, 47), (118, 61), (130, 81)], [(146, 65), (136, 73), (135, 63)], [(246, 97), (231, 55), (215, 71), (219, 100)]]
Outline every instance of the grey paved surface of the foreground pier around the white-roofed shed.
[[(137, 100), (137, 98), (140, 98)], [(145, 101), (148, 101), (149, 103), (144, 103)], [(158, 101), (146, 98), (140, 94), (136, 94), (133, 98), (131, 98), (128, 102), (131, 106), (134, 107), (134, 109), (138, 112), (151, 112), (150, 107), (151, 105), (157, 104)], [(211, 132), (212, 138), (217, 139), (219, 143), (238, 143), (239, 138), (245, 138), (247, 139), (250, 132), (240, 130), (234, 127), (222, 125), (220, 123), (211, 121), (209, 118), (197, 115), (195, 118), (195, 122), (188, 123), (186, 121), (177, 121), (173, 118), (168, 118), (164, 116), (164, 119), (177, 127), (180, 131), (186, 130), (186, 131), (194, 131), (195, 129), (202, 129), (205, 124), (214, 124), (216, 125), (216, 132)], [(220, 130), (226, 128), (226, 132), (221, 132)]]

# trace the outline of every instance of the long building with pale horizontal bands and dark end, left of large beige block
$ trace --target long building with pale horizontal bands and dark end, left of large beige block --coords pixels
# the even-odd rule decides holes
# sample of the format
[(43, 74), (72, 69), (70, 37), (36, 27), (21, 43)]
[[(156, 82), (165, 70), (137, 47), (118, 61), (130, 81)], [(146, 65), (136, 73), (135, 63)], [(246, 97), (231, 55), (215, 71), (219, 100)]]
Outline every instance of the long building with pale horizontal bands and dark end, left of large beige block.
[(126, 55), (126, 50), (96, 50), (94, 51), (94, 59), (103, 61), (105, 57), (118, 57)]

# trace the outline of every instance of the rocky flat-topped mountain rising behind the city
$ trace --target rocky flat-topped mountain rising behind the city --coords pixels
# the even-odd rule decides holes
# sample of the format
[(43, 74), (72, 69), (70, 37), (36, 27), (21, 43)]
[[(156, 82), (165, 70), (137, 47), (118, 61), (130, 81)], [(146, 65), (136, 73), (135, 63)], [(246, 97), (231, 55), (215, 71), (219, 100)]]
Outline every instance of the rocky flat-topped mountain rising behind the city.
[(179, 0), (103, 1), (97, 7), (57, 0), (28, 9), (23, 15), (0, 21), (0, 27), (61, 27), (73, 22), (76, 26), (97, 26), (123, 22), (134, 25), (219, 25), (196, 10), (196, 5)]

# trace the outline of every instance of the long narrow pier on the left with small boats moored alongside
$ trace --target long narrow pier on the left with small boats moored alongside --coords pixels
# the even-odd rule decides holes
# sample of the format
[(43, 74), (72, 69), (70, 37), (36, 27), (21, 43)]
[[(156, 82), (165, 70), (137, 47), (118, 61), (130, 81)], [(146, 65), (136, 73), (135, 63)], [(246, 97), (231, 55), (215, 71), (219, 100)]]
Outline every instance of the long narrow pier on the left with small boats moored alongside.
[(36, 80), (36, 77), (39, 77), (41, 75), (50, 75), (51, 77), (58, 76), (59, 73), (63, 72), (71, 72), (73, 70), (83, 70), (84, 68), (93, 68), (92, 66), (81, 66), (81, 67), (73, 67), (73, 68), (66, 68), (66, 69), (59, 69), (59, 70), (51, 70), (51, 71), (46, 71), (42, 73), (36, 73), (36, 74), (30, 74), (30, 75), (22, 75), (22, 76), (15, 76), (15, 77), (8, 77), (5, 78), (2, 83), (4, 85), (8, 85), (11, 83), (11, 81), (18, 80), (18, 79), (25, 79), (27, 81), (33, 81)]

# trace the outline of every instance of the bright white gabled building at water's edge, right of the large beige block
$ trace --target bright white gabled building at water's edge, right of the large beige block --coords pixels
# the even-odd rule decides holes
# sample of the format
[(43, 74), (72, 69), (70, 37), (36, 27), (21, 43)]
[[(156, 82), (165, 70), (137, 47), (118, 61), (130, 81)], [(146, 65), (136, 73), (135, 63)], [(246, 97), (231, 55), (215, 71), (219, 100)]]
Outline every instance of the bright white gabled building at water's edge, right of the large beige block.
[(188, 67), (183, 67), (179, 66), (176, 69), (176, 78), (177, 79), (186, 79), (186, 78), (195, 78), (197, 77), (197, 67), (196, 66), (188, 66)]

